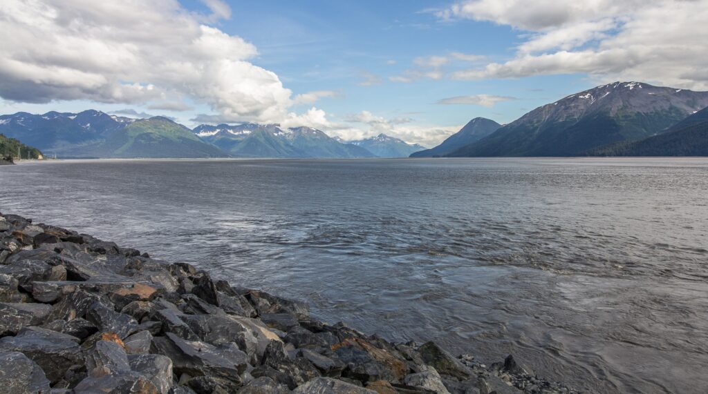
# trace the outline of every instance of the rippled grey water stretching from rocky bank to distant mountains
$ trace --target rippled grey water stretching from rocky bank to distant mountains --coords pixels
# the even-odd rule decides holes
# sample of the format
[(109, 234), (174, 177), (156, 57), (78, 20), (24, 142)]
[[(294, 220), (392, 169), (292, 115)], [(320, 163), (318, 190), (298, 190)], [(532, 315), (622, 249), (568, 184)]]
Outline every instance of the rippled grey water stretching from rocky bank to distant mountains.
[(708, 388), (708, 160), (76, 161), (0, 211), (592, 393)]

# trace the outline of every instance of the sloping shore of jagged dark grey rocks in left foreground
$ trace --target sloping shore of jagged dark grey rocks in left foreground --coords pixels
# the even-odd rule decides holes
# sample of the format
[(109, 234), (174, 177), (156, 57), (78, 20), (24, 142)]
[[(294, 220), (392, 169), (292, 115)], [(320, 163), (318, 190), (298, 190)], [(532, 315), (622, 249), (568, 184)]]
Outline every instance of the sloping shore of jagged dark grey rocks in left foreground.
[[(244, 285), (244, 284), (240, 284)], [(187, 263), (0, 214), (0, 393), (577, 393)]]

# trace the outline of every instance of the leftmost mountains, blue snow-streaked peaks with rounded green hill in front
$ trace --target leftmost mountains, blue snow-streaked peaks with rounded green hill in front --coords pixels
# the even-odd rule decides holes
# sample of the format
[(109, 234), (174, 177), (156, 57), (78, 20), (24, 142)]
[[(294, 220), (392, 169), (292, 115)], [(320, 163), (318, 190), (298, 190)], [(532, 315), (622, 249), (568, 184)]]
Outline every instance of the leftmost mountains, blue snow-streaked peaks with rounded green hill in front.
[(0, 133), (59, 157), (227, 157), (164, 117), (130, 119), (89, 109), (0, 116)]

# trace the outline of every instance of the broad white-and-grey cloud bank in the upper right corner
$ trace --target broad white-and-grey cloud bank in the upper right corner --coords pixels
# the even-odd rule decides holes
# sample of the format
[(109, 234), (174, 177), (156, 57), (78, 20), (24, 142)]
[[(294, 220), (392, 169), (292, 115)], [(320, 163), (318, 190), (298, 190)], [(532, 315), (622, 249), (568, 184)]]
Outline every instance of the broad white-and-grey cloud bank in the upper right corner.
[(708, 89), (708, 0), (472, 0), (437, 14), (510, 25), (523, 39), (513, 59), (456, 71), (452, 78), (587, 73), (598, 80)]

